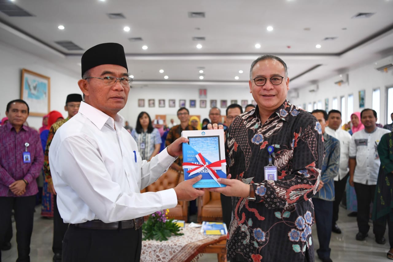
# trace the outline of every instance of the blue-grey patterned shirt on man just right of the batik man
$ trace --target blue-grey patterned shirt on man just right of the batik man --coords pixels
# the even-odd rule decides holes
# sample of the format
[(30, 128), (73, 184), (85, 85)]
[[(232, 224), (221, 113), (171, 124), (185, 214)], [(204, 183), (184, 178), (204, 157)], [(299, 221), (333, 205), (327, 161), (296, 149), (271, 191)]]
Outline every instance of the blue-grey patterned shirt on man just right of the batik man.
[(323, 144), (325, 146), (321, 170), (323, 186), (312, 198), (334, 201), (334, 177), (338, 174), (340, 166), (340, 141), (325, 132)]

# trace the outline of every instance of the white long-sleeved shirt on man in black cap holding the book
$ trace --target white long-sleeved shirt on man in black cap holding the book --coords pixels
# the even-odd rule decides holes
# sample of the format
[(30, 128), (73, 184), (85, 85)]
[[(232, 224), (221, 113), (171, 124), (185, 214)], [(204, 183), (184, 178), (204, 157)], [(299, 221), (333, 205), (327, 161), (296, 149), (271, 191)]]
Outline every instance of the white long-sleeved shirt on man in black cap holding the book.
[(53, 137), (49, 163), (65, 223), (129, 220), (177, 205), (173, 188), (140, 193), (175, 158), (165, 149), (150, 162), (142, 161), (123, 120), (82, 102), (79, 113)]

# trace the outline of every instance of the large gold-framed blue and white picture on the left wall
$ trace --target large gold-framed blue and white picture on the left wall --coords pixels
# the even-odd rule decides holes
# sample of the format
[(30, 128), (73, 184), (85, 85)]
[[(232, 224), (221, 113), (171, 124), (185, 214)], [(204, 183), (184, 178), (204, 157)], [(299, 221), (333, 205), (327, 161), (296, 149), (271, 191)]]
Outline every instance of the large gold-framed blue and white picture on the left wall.
[(29, 105), (31, 116), (44, 116), (50, 111), (50, 77), (22, 69), (20, 99)]

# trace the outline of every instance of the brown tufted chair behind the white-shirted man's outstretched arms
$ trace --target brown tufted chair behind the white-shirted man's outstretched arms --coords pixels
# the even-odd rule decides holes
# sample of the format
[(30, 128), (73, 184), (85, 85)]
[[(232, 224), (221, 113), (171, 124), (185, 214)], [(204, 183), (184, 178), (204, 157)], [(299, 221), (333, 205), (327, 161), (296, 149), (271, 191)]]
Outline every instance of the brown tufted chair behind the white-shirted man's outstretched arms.
[[(169, 168), (168, 171), (163, 173), (163, 175), (156, 182), (141, 190), (141, 193), (157, 192), (169, 188), (174, 188), (182, 181), (184, 181), (183, 174), (180, 174), (176, 170)], [(187, 214), (188, 201), (178, 201), (176, 207), (169, 208), (168, 218), (184, 220), (187, 222)], [(147, 220), (147, 218), (148, 216), (145, 217), (145, 220)]]

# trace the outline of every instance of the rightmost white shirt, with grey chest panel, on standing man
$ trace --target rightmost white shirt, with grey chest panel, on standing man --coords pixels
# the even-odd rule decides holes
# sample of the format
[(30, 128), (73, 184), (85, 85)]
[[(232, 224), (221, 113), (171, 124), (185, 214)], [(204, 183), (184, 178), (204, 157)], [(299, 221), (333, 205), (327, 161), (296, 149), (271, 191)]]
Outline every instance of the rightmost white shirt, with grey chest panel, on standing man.
[(349, 158), (356, 158), (353, 181), (363, 185), (376, 185), (379, 166), (377, 146), (381, 137), (389, 130), (376, 127), (371, 133), (362, 129), (352, 135), (349, 143)]

